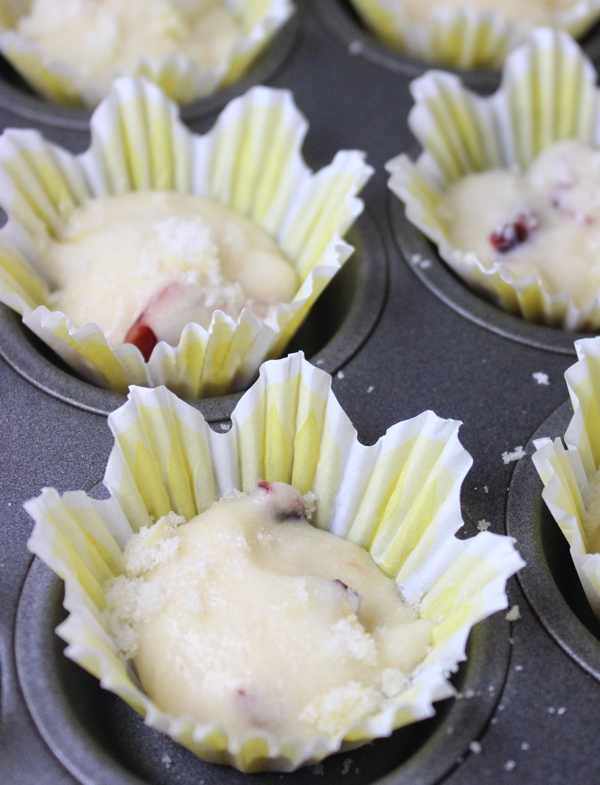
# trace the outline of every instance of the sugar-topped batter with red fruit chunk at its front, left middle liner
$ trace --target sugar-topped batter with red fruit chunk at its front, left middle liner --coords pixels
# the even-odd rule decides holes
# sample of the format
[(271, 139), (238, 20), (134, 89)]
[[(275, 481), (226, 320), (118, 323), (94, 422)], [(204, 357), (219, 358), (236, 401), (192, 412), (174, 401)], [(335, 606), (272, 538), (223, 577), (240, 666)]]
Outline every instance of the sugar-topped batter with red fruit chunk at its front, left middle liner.
[(189, 322), (210, 326), (220, 309), (268, 317), (293, 299), (296, 274), (261, 227), (208, 199), (136, 192), (91, 199), (60, 237), (37, 238), (54, 289), (50, 305), (77, 325), (99, 325), (121, 345), (141, 319), (176, 346)]

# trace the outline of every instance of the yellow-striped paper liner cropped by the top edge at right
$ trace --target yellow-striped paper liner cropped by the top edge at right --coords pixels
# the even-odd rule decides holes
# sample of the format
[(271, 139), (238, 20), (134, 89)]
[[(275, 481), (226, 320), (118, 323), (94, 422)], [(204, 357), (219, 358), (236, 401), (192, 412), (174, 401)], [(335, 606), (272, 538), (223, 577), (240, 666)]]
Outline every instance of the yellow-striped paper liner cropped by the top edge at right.
[[(429, 21), (411, 21), (402, 0), (351, 0), (360, 16), (388, 46), (413, 57), (452, 68), (500, 68), (507, 54), (534, 27), (493, 11), (469, 7), (433, 10)], [(441, 4), (443, 5), (443, 4)], [(548, 24), (578, 37), (600, 18), (600, 0), (579, 0), (570, 10), (556, 12)]]

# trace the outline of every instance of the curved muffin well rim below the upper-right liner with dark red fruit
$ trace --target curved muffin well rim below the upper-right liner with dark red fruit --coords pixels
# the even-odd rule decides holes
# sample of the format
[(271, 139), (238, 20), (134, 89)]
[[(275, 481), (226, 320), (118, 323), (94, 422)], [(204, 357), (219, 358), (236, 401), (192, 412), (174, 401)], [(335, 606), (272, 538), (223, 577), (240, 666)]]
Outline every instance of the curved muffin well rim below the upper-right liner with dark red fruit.
[(436, 297), (465, 319), (503, 338), (558, 354), (575, 356), (574, 341), (591, 337), (526, 322), (469, 289), (441, 259), (433, 243), (406, 218), (404, 205), (392, 193), (388, 205), (394, 237), (406, 264)]

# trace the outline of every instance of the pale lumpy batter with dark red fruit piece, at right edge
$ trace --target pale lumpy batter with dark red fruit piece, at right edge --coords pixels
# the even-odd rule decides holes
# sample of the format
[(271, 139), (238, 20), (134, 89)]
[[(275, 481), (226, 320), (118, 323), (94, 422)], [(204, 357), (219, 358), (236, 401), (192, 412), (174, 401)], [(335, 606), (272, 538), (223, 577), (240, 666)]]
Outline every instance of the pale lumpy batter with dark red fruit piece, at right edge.
[(514, 279), (536, 274), (584, 309), (600, 293), (600, 151), (569, 140), (547, 148), (527, 172), (470, 174), (444, 195), (448, 238), (485, 267)]

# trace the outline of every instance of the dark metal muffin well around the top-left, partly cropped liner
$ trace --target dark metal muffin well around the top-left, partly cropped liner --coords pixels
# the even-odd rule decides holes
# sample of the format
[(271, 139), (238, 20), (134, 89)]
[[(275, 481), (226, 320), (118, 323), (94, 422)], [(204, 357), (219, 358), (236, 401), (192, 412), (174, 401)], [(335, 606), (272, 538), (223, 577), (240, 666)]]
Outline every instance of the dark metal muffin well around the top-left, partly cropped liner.
[[(245, 76), (214, 95), (182, 106), (181, 119), (186, 123), (192, 123), (210, 117), (254, 85), (267, 84), (298, 43), (303, 13), (300, 8), (296, 9), (296, 13), (259, 55)], [(0, 56), (0, 109), (34, 126), (45, 125), (86, 133), (89, 132), (92, 116), (91, 112), (84, 109), (68, 109), (52, 104), (37, 95), (2, 56)]]

